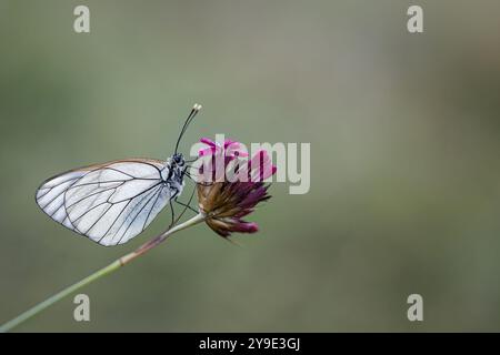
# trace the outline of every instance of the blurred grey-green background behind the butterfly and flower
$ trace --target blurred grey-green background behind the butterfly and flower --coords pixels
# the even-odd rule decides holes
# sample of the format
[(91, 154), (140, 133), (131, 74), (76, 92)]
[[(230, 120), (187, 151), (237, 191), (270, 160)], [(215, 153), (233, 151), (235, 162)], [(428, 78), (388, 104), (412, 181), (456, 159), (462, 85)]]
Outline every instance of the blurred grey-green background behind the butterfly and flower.
[[(73, 32), (87, 4), (91, 32)], [(420, 4), (424, 32), (407, 31)], [(33, 194), (89, 163), (226, 133), (310, 142), (311, 190), (241, 247), (207, 226), (18, 331), (500, 331), (500, 2), (0, 1), (0, 323), (162, 231), (102, 247)], [(407, 320), (419, 293), (424, 322)]]

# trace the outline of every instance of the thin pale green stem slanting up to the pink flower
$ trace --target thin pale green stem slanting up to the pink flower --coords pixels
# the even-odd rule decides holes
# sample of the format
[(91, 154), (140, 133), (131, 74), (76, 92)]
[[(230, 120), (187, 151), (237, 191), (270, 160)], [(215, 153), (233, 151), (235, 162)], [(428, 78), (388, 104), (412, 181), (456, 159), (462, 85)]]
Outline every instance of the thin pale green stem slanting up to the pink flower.
[(123, 265), (127, 265), (136, 257), (144, 254), (146, 252), (150, 251), (154, 246), (159, 245), (161, 242), (163, 242), (168, 236), (172, 235), (176, 232), (182, 231), (189, 226), (192, 226), (194, 224), (198, 224), (202, 221), (204, 221), (206, 216), (203, 214), (197, 214), (192, 219), (186, 221), (184, 223), (178, 224), (174, 227), (167, 230), (166, 232), (161, 233), (157, 237), (152, 239), (151, 241), (142, 244), (139, 246), (136, 251), (123, 255), (122, 257), (116, 260), (111, 264), (109, 264), (106, 267), (102, 267), (101, 270), (98, 270), (93, 274), (87, 276), (86, 278), (77, 282), (76, 284), (66, 287), (64, 290), (60, 291), (59, 293), (54, 294), (53, 296), (47, 298), (46, 301), (37, 304), (34, 307), (26, 311), (24, 313), (21, 313), (16, 318), (7, 322), (6, 324), (0, 326), (0, 333), (6, 333), (18, 326), (19, 324), (23, 323), (24, 321), (31, 318), (32, 316), (37, 315), (41, 311), (48, 308), (52, 304), (54, 304), (58, 301), (61, 301), (66, 296), (72, 294), (74, 291), (80, 290), (81, 287), (92, 283), (93, 281), (101, 278), (102, 276), (112, 273), (120, 268)]

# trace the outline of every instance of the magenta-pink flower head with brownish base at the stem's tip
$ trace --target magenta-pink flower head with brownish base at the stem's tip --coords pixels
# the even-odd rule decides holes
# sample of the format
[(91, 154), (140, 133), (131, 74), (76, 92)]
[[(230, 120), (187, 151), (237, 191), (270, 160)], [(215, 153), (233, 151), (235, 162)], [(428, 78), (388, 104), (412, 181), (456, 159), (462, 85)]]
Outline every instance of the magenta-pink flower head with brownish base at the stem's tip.
[(208, 164), (199, 170), (197, 185), (198, 204), (207, 216), (207, 224), (219, 235), (227, 237), (232, 232), (254, 233), (257, 223), (247, 222), (244, 216), (253, 212), (257, 204), (269, 200), (269, 184), (264, 179), (273, 175), (272, 165), (266, 151), (259, 151), (251, 160), (241, 158), (248, 154), (241, 144), (226, 140), (219, 144), (201, 139), (208, 145), (200, 150), (200, 156), (210, 156)]

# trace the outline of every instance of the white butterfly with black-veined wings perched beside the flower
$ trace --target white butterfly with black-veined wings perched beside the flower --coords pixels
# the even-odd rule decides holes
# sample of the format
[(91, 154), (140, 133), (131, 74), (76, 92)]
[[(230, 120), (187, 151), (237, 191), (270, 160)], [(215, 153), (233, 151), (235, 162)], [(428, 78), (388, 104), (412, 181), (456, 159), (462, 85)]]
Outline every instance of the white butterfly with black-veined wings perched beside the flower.
[(167, 204), (173, 224), (172, 201), (190, 176), (178, 148), (200, 109), (192, 108), (167, 161), (126, 159), (73, 169), (46, 180), (37, 190), (37, 204), (56, 222), (106, 246), (133, 239)]

